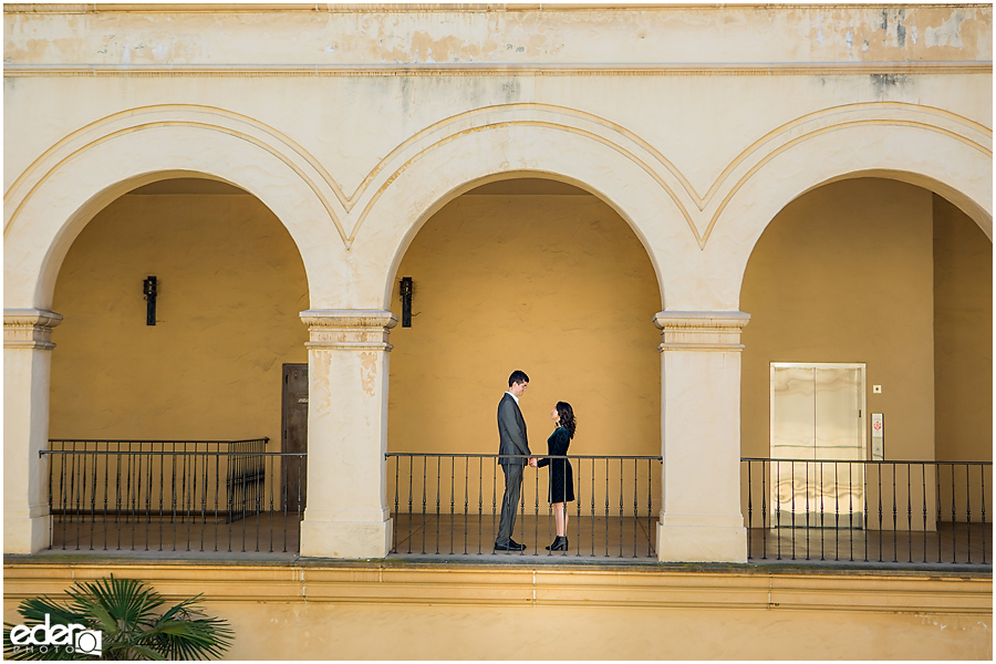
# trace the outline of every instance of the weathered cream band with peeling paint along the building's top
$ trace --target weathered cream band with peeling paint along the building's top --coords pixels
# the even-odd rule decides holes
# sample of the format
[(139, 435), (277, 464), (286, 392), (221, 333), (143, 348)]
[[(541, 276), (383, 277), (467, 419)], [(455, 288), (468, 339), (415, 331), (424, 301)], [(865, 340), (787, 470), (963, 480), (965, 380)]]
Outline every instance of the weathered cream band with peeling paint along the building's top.
[[(30, 12), (7, 10), (7, 17), (17, 15), (4, 42), (4, 56), (14, 64), (153, 64), (162, 54), (153, 44), (165, 44), (174, 64), (241, 65), (314, 64), (315, 56), (324, 65), (779, 63), (863, 60), (864, 54), (872, 60), (964, 62), (986, 61), (992, 53), (992, 7), (985, 6), (424, 13), (288, 9), (153, 15), (66, 14), (31, 7)], [(124, 39), (129, 40), (127, 53)], [(853, 46), (863, 41), (868, 50), (855, 52)], [(928, 49), (934, 52), (926, 53)], [(967, 52), (956, 52), (962, 50)]]

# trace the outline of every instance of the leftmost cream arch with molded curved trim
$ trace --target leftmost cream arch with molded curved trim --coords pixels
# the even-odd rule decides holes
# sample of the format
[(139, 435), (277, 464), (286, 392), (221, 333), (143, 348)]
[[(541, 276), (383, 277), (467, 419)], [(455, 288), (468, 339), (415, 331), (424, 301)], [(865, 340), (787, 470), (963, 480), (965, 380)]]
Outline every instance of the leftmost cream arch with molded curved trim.
[(221, 123), (201, 118), (193, 124), (172, 118), (175, 112), (169, 121), (151, 114), (137, 114), (144, 122), (125, 115), (132, 121), (126, 127), (118, 126), (122, 118), (113, 118), (74, 135), (11, 187), (4, 200), (8, 308), (50, 307), (62, 259), (86, 222), (122, 194), (174, 177), (219, 179), (249, 191), (287, 227), (309, 273), (309, 288), (320, 293), (341, 288), (336, 264), (344, 246), (341, 238), (335, 241), (334, 197), (325, 195), (317, 177), (307, 177), (295, 163), (298, 153), (276, 141), (247, 139)]

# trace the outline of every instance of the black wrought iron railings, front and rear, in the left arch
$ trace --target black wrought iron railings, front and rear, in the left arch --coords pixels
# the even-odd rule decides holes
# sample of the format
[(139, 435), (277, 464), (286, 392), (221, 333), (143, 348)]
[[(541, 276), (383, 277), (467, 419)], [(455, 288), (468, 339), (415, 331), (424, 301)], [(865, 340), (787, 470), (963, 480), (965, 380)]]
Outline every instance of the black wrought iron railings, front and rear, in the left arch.
[(295, 552), (307, 455), (250, 440), (53, 439), (53, 549)]

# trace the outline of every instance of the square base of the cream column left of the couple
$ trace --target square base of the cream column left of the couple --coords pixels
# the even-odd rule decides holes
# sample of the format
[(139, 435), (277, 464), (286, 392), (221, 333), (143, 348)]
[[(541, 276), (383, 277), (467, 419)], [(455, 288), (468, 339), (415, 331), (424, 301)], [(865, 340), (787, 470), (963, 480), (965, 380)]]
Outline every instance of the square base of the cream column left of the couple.
[(394, 521), (301, 521), (301, 556), (313, 558), (386, 558)]

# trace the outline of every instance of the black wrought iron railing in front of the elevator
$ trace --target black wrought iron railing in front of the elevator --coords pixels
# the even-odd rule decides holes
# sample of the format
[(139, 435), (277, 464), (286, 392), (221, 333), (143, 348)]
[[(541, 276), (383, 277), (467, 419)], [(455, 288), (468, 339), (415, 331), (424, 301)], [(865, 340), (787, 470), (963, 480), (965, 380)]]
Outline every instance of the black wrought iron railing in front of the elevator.
[(751, 561), (992, 566), (992, 461), (741, 459)]

